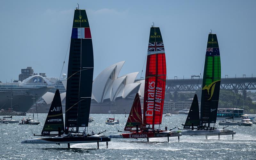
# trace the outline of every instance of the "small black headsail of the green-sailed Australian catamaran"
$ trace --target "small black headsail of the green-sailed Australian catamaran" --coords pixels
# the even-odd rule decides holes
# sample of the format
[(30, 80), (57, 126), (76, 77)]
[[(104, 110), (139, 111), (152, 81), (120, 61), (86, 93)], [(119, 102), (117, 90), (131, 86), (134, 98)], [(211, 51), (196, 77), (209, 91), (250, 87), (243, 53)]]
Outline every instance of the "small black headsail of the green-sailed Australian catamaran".
[(200, 121), (199, 105), (198, 105), (197, 95), (195, 94), (183, 129), (191, 129), (192, 123), (193, 123), (193, 126), (197, 128), (197, 126), (199, 125), (199, 121)]

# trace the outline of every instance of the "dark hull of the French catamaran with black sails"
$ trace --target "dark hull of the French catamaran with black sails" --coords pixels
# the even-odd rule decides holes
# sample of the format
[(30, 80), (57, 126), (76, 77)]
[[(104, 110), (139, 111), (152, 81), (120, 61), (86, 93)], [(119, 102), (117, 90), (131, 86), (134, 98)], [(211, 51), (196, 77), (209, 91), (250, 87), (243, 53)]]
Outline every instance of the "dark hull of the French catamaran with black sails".
[(95, 142), (109, 142), (110, 138), (107, 136), (78, 136), (78, 137), (49, 137), (49, 138), (35, 138), (24, 140), (21, 143), (95, 143)]

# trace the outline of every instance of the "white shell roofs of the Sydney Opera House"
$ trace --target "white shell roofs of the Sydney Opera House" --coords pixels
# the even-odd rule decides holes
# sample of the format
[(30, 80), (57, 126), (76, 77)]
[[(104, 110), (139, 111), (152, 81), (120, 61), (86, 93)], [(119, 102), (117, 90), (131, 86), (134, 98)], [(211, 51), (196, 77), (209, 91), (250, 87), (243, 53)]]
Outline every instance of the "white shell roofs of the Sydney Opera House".
[(124, 62), (107, 67), (95, 78), (92, 83), (92, 100), (98, 103), (115, 101), (116, 98), (125, 99), (139, 91), (140, 83), (134, 82), (139, 72), (118, 77)]

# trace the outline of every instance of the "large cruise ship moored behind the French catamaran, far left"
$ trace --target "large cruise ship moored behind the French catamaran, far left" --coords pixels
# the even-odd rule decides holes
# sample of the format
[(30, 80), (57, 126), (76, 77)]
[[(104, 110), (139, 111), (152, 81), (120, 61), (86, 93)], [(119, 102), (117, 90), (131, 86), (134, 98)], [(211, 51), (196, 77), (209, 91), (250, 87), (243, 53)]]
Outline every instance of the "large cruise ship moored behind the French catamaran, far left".
[[(34, 104), (34, 97), (36, 101), (46, 104), (50, 101), (47, 95), (54, 94), (57, 86), (60, 93), (66, 92), (61, 80), (59, 85), (58, 81), (59, 78), (34, 75), (22, 82), (0, 83), (0, 111), (27, 112)], [(45, 100), (41, 98), (44, 96)]]

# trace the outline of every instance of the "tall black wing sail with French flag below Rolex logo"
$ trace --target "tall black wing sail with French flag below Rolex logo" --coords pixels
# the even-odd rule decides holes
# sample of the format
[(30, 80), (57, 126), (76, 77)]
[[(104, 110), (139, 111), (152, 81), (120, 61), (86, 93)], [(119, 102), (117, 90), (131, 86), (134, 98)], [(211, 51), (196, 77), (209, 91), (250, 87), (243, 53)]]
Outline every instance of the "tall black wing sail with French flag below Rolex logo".
[(93, 49), (89, 22), (85, 10), (75, 10), (68, 61), (66, 128), (88, 127), (92, 77)]

